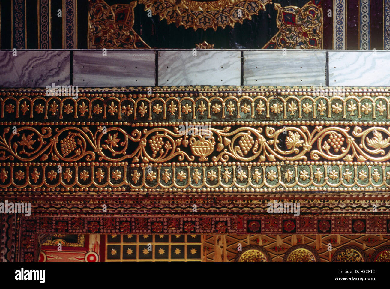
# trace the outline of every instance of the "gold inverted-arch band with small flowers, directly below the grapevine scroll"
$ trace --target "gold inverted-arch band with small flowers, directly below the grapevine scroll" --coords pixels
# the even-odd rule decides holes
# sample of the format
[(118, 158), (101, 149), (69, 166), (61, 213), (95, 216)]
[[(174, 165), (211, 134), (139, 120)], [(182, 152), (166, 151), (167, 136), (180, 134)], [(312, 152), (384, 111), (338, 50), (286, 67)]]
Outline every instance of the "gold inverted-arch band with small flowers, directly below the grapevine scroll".
[(0, 164), (5, 191), (387, 192), (389, 180), (388, 162)]

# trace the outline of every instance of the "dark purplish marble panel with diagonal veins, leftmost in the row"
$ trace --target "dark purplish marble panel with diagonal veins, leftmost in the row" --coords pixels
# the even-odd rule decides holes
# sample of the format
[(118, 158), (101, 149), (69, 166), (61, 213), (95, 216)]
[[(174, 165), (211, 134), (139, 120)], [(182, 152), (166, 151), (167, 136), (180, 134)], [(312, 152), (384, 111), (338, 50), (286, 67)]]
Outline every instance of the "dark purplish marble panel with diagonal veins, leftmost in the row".
[(70, 51), (0, 51), (0, 87), (70, 84)]

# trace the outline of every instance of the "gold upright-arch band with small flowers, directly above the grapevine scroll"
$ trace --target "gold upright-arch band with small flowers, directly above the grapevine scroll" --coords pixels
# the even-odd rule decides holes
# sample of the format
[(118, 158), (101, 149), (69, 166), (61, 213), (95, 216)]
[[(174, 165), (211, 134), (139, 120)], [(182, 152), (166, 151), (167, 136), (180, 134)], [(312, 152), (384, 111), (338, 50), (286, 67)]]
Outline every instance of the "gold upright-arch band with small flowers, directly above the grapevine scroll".
[[(191, 90), (191, 89), (188, 89)], [(239, 88), (241, 90), (241, 88)], [(302, 90), (302, 89), (301, 89)], [(1, 118), (28, 116), (42, 120), (115, 119), (126, 121), (279, 120), (308, 117), (320, 121), (390, 119), (390, 92), (338, 93), (322, 90), (263, 92), (181, 92), (151, 94), (79, 93), (45, 97), (43, 92), (2, 92)]]

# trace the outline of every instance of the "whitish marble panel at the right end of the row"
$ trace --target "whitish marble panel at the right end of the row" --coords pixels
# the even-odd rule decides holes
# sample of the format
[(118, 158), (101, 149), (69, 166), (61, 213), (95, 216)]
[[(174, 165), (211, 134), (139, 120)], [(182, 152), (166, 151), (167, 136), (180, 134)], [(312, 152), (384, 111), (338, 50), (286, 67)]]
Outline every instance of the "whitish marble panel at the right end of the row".
[(390, 52), (329, 51), (329, 85), (390, 85)]

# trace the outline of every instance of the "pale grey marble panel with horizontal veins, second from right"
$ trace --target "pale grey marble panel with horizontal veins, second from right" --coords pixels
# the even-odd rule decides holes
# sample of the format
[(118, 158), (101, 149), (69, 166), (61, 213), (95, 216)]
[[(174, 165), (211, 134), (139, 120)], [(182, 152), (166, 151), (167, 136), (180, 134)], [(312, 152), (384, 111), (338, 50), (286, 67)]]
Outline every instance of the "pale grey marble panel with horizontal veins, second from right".
[(244, 51), (244, 85), (324, 85), (324, 51)]

